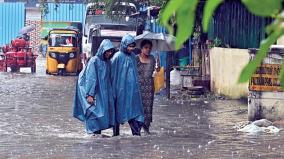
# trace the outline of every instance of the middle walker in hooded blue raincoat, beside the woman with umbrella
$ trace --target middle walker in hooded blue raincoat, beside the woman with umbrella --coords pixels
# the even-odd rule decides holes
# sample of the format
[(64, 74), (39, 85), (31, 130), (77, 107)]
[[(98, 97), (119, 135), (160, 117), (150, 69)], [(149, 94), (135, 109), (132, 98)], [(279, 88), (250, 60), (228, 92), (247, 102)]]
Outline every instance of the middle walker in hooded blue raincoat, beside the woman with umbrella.
[(116, 112), (114, 136), (119, 135), (119, 124), (125, 122), (129, 123), (133, 135), (140, 135), (144, 122), (134, 49), (134, 37), (126, 34), (122, 38), (120, 50), (111, 59), (111, 80)]

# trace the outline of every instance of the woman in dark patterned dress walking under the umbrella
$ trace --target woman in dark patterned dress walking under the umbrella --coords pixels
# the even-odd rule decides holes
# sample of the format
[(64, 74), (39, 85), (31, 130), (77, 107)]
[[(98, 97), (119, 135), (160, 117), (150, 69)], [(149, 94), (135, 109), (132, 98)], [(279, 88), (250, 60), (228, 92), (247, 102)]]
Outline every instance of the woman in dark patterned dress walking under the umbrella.
[(151, 55), (152, 42), (143, 40), (141, 42), (141, 53), (136, 56), (142, 104), (144, 107), (145, 121), (143, 129), (150, 134), (149, 127), (152, 122), (153, 101), (154, 101), (154, 78), (156, 60)]

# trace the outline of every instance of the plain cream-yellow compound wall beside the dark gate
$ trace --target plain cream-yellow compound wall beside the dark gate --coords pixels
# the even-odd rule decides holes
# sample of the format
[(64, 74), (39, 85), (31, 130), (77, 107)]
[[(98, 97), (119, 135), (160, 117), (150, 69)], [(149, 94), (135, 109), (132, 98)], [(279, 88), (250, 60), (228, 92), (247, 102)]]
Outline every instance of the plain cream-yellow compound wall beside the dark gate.
[(242, 68), (249, 62), (245, 49), (213, 48), (210, 50), (211, 90), (232, 99), (247, 97), (248, 83), (238, 84)]

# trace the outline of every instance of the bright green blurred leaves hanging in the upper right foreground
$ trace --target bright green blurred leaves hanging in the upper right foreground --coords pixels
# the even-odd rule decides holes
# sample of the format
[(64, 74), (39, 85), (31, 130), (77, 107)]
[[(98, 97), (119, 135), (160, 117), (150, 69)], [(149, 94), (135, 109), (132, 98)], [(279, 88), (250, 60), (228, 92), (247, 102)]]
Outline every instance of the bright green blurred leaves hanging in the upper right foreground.
[[(253, 14), (262, 17), (273, 17), (274, 21), (266, 27), (268, 37), (260, 44), (256, 58), (245, 66), (239, 78), (239, 82), (247, 82), (262, 60), (266, 57), (267, 52), (272, 44), (279, 37), (284, 35), (284, 11), (282, 4), (284, 0), (240, 0), (246, 8)], [(216, 8), (224, 0), (207, 0), (203, 8), (202, 26), (203, 31), (208, 30), (209, 22)], [(160, 15), (160, 21), (167, 27), (170, 33), (173, 33), (173, 26), (169, 23), (172, 17), (175, 17), (177, 29), (176, 47), (179, 48), (187, 38), (192, 35), (197, 6), (199, 0), (170, 0)], [(280, 72), (280, 82), (284, 86), (284, 64)]]

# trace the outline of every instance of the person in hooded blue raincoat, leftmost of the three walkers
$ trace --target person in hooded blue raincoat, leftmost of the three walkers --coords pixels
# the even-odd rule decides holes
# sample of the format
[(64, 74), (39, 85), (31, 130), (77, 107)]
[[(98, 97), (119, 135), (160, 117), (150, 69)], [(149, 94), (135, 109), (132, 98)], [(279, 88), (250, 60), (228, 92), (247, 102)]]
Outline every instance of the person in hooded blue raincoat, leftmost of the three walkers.
[(103, 40), (96, 56), (79, 74), (73, 116), (85, 123), (87, 133), (100, 134), (115, 124), (109, 60), (114, 48), (110, 40)]

